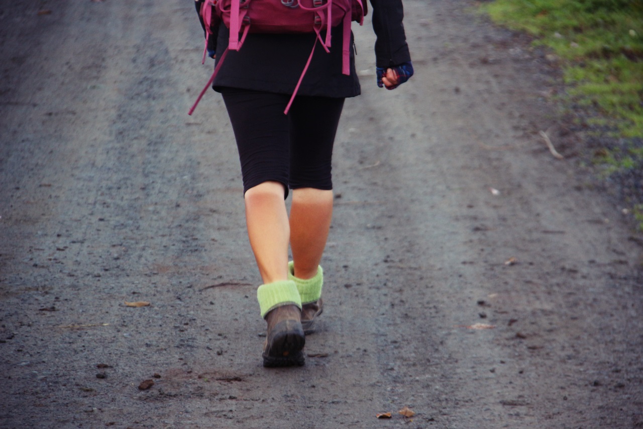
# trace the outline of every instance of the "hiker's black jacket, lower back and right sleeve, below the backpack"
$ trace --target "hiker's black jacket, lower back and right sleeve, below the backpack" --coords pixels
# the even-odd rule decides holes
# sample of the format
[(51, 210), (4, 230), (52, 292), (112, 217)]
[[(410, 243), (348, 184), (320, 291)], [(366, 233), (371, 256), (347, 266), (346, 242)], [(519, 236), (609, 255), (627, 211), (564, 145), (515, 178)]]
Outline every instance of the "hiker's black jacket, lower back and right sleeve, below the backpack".
[[(376, 65), (386, 68), (411, 61), (402, 23), (402, 0), (370, 0), (370, 3), (373, 29), (377, 36)], [(219, 26), (216, 41), (217, 59), (221, 58), (228, 46), (229, 34), (226, 26)], [(250, 33), (239, 52), (228, 52), (213, 82), (213, 88), (217, 91), (221, 91), (223, 87), (230, 87), (291, 94), (311, 53), (315, 37), (314, 33)], [(299, 88), (299, 95), (359, 95), (359, 80), (352, 50), (350, 75), (341, 73), (341, 26), (332, 29), (331, 37), (330, 53), (325, 52), (319, 43), (316, 46), (311, 65)]]

